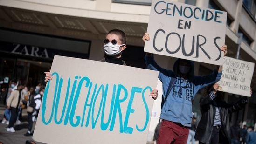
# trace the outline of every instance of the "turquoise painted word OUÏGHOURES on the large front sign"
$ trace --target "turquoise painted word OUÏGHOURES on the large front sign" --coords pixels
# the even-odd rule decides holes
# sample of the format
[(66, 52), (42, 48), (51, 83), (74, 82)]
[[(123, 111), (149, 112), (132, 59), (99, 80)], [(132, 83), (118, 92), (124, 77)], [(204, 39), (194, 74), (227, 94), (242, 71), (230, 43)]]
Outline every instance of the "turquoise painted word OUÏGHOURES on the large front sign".
[[(56, 72), (52, 75), (55, 78), (48, 82), (42, 99), (42, 122), (45, 125), (69, 124), (72, 127), (81, 126), (87, 129), (99, 127), (101, 130), (115, 129), (126, 134), (132, 134), (134, 130), (145, 131), (150, 117), (145, 97), (152, 91), (150, 87), (145, 89), (131, 87), (131, 91), (128, 91), (122, 84), (113, 84), (110, 87), (109, 84), (93, 83), (86, 76), (75, 76), (66, 79), (65, 89), (63, 88), (65, 79)], [(55, 87), (51, 87), (53, 81), (56, 83)], [(50, 87), (54, 89), (54, 94), (49, 93)], [(50, 98), (53, 102), (49, 100), (48, 95), (52, 96)], [(142, 107), (143, 105), (145, 107), (145, 124), (129, 123), (132, 115), (137, 114), (133, 107), (135, 96), (141, 96)], [(81, 99), (84, 101), (82, 110)], [(143, 121), (144, 118), (140, 117), (140, 123), (141, 120)]]

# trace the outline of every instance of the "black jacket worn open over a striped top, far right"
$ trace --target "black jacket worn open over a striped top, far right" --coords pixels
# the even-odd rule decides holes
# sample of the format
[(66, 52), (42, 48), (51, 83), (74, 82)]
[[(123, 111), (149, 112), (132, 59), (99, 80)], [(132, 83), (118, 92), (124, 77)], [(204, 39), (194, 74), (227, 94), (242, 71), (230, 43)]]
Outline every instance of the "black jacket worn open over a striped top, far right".
[[(202, 117), (197, 126), (194, 138), (205, 144), (210, 143), (213, 130), (214, 116), (216, 111), (213, 101), (214, 100), (212, 100), (210, 96), (202, 96), (200, 98)], [(239, 101), (233, 104), (228, 104), (224, 100), (217, 102), (221, 115), (220, 142), (224, 141), (223, 144), (231, 143), (229, 113), (242, 110), (246, 103), (247, 98), (241, 98)]]

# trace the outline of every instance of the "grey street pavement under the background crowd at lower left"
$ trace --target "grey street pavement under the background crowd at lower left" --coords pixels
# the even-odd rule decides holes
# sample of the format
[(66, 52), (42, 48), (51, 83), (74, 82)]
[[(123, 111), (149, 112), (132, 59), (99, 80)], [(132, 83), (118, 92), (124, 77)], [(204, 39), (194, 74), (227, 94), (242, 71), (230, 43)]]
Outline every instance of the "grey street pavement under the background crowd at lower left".
[[(22, 119), (21, 124), (14, 124), (14, 129), (16, 130), (14, 133), (7, 132), (6, 127), (7, 124), (3, 124), (3, 114), (6, 106), (0, 104), (0, 142), (3, 144), (26, 144), (27, 140), (33, 140), (32, 136), (24, 136), (24, 134), (28, 131), (28, 118), (27, 118), (27, 111), (24, 109), (22, 110)], [(33, 123), (33, 129), (35, 128), (35, 123)], [(35, 142), (35, 141), (34, 141)], [(40, 142), (35, 142), (36, 144), (45, 144)]]

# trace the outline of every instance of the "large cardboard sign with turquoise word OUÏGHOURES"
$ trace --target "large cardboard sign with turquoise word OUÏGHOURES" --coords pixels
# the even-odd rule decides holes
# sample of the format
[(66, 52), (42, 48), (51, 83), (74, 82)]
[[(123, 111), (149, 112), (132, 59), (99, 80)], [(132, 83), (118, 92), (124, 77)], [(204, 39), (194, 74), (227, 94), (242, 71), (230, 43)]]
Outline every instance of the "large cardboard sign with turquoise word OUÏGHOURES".
[(158, 71), (54, 57), (33, 139), (49, 144), (145, 144)]

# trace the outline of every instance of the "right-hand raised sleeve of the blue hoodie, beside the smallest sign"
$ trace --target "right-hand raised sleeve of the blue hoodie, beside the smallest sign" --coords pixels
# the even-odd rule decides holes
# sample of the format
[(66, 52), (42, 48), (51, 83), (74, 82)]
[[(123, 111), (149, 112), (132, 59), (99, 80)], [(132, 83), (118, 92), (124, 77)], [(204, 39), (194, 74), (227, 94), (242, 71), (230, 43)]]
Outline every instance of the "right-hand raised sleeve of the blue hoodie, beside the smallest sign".
[(197, 89), (202, 89), (208, 85), (214, 84), (221, 79), (222, 71), (218, 72), (214, 69), (214, 71), (210, 75), (204, 76), (195, 76), (194, 84)]

